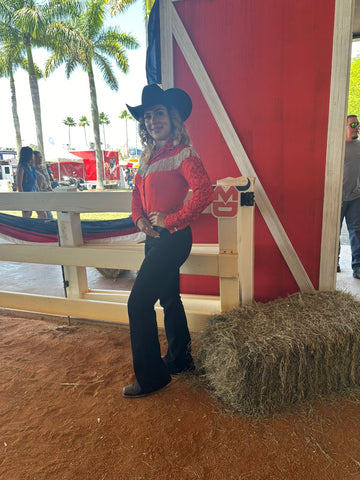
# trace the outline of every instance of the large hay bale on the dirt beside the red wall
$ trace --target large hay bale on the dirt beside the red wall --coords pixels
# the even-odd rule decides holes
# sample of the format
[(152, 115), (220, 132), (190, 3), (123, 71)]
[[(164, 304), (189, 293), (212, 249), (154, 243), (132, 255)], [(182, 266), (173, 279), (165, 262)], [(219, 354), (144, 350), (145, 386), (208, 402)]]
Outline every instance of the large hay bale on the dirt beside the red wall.
[(209, 320), (195, 363), (227, 408), (267, 415), (360, 384), (360, 303), (294, 294)]

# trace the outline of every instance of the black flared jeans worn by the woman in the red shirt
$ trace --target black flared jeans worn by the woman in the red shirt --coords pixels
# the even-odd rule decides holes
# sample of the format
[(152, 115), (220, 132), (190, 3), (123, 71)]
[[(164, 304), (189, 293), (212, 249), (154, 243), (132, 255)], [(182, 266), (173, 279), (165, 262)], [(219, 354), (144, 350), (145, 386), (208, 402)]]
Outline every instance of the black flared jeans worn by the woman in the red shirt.
[(161, 358), (154, 305), (164, 309), (168, 341), (166, 360), (182, 369), (190, 355), (190, 334), (180, 297), (181, 265), (192, 246), (190, 227), (170, 233), (155, 227), (160, 238), (146, 237), (145, 259), (129, 296), (128, 313), (134, 372), (144, 392), (151, 392), (170, 381)]

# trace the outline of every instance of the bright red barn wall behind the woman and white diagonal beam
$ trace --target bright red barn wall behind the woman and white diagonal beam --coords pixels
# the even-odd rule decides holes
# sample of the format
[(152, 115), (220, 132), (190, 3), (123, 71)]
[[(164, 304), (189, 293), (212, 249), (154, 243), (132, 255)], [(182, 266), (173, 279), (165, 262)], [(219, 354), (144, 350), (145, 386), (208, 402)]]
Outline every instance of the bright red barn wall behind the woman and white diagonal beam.
[[(334, 0), (183, 0), (174, 3), (295, 251), (318, 288)], [(239, 172), (174, 42), (175, 86), (192, 97), (187, 121), (213, 183)], [(215, 227), (207, 229), (216, 236)], [(196, 229), (195, 241), (204, 237)], [(182, 279), (182, 291), (217, 282)], [(298, 291), (259, 212), (255, 297)]]

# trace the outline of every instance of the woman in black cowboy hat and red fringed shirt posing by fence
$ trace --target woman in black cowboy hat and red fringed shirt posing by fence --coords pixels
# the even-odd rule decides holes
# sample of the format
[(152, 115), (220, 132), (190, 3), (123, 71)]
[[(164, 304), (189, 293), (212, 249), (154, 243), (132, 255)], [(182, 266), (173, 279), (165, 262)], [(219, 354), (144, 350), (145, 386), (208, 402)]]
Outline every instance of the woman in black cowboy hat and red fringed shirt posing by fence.
[[(179, 269), (192, 246), (189, 224), (212, 201), (213, 191), (183, 124), (192, 110), (186, 92), (148, 85), (142, 104), (127, 107), (140, 122), (144, 147), (135, 176), (132, 218), (146, 234), (145, 259), (128, 301), (136, 381), (123, 389), (125, 398), (137, 398), (165, 387), (171, 374), (193, 369)], [(193, 195), (184, 206), (189, 188)], [(158, 299), (168, 341), (163, 359), (154, 310)]]

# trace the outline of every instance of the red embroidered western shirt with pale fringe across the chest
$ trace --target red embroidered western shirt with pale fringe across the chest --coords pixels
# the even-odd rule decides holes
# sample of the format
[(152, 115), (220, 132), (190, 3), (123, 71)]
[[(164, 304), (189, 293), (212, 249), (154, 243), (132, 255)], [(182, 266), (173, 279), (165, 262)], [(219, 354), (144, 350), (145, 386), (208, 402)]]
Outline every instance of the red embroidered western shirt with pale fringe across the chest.
[[(174, 232), (196, 220), (211, 203), (214, 194), (210, 179), (195, 150), (188, 145), (173, 146), (169, 140), (135, 175), (132, 219), (148, 218), (151, 212), (168, 212), (165, 227)], [(185, 197), (193, 191), (184, 205)]]

